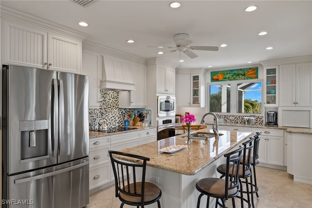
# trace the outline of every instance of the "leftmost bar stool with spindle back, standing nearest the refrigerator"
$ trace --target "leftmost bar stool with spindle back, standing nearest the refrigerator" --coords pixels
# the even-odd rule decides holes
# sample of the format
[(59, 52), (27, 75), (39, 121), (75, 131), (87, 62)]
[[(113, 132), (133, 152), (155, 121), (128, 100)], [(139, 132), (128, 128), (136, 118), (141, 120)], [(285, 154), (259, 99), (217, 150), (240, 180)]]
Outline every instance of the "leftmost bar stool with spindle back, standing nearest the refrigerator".
[[(113, 150), (108, 153), (115, 176), (116, 197), (121, 201), (120, 208), (124, 204), (144, 208), (145, 205), (155, 202), (160, 208), (160, 188), (153, 183), (145, 182), (146, 161), (150, 158)], [(117, 159), (114, 155), (121, 156), (119, 158), (123, 160)], [(136, 163), (127, 162), (127, 158)]]

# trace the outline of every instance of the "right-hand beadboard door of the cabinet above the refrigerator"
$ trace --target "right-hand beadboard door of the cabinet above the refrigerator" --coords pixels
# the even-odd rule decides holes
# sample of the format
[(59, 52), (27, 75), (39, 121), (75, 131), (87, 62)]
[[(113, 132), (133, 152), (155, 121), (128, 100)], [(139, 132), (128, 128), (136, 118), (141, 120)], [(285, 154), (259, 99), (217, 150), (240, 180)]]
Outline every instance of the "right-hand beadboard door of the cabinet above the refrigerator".
[(81, 73), (81, 41), (48, 35), (48, 69)]

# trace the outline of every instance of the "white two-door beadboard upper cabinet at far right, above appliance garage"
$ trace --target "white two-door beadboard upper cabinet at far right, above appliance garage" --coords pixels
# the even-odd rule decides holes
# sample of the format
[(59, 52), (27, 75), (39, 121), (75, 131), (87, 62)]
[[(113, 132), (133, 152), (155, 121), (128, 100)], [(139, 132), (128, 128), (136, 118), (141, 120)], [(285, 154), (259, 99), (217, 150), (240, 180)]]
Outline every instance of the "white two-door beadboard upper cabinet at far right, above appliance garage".
[(312, 106), (312, 62), (279, 66), (279, 106)]

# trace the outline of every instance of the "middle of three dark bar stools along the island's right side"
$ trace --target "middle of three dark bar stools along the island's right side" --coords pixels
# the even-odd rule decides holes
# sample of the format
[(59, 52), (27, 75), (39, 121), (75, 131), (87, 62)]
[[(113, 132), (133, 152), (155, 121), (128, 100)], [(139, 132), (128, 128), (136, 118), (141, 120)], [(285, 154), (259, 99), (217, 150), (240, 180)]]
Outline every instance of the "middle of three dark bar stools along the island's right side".
[[(252, 150), (254, 147), (254, 137), (250, 137), (249, 140), (247, 142), (243, 143), (243, 157), (240, 159), (240, 161), (242, 161), (241, 166), (239, 166), (239, 171), (238, 171), (238, 177), (239, 177), (239, 184), (240, 184), (240, 196), (237, 196), (238, 198), (240, 198), (241, 201), (241, 208), (244, 207), (243, 202), (247, 202), (248, 203), (248, 208), (250, 208), (251, 206), (254, 207), (254, 197), (253, 197), (253, 175), (252, 175), (252, 171), (251, 171), (251, 154), (252, 154)], [(232, 167), (231, 167), (232, 168)], [(225, 177), (226, 175), (226, 164), (222, 164), (220, 166), (218, 166), (216, 168), (216, 170), (221, 174), (221, 178)], [(250, 182), (248, 182), (248, 178), (250, 178)], [(245, 193), (247, 194), (247, 199), (245, 199), (243, 197), (243, 185), (242, 185), (242, 181), (241, 179), (245, 179), (245, 183), (246, 183), (246, 191)], [(249, 186), (248, 184), (251, 185), (251, 191), (249, 191)], [(250, 198), (251, 195), (251, 198)]]

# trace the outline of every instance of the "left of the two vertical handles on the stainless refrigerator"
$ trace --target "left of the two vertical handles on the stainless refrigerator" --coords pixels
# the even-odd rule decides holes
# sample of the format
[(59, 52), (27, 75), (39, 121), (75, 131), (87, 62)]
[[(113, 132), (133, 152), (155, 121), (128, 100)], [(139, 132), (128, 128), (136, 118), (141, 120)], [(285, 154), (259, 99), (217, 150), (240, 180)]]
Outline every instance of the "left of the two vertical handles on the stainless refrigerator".
[(52, 122), (51, 122), (51, 146), (52, 146), (52, 154), (53, 157), (57, 156), (58, 150), (58, 140), (57, 137), (59, 135), (59, 126), (58, 126), (58, 113), (59, 112), (59, 90), (58, 90), (58, 80), (52, 80)]

